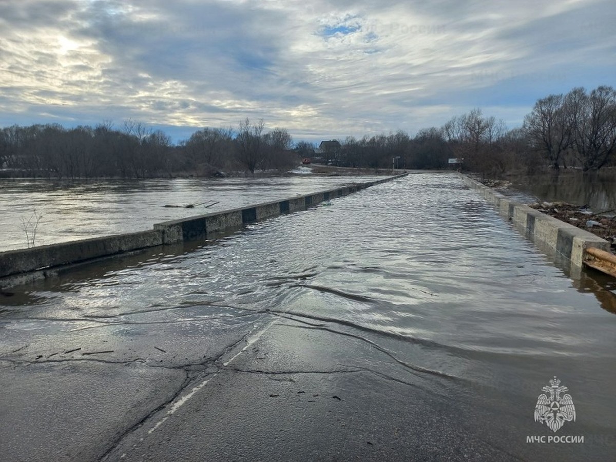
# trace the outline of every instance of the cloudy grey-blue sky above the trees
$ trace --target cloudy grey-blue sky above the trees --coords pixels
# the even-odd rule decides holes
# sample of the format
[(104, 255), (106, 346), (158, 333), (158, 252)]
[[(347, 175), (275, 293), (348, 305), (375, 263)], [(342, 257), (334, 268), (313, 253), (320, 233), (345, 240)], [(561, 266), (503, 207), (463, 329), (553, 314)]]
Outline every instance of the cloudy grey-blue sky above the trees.
[(614, 0), (0, 0), (0, 126), (127, 118), (175, 141), (249, 117), (295, 140), (519, 126), (616, 86)]

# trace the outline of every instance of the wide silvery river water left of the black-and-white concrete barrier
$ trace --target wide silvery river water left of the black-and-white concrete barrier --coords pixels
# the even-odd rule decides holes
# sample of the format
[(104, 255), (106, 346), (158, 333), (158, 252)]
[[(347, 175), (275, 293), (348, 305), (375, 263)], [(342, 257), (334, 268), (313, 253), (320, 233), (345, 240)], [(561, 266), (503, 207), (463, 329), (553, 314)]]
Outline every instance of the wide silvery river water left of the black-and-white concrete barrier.
[[(27, 245), (24, 223), (31, 232), (37, 216), (36, 245), (129, 233), (197, 214), (280, 200), (371, 176), (277, 178), (92, 180), (0, 179), (0, 251)], [(209, 206), (213, 204), (212, 206)], [(184, 208), (185, 205), (197, 205)], [(165, 207), (172, 205), (175, 207)], [(32, 219), (28, 225), (28, 220)]]

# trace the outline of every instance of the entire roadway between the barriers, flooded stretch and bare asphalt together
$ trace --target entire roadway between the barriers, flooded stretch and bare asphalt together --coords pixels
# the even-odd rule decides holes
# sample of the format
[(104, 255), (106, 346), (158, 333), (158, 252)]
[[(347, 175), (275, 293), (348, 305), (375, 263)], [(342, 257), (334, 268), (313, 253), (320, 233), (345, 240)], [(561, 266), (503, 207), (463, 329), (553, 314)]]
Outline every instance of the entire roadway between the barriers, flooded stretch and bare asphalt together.
[(413, 174), (0, 296), (0, 455), (614, 460), (614, 289)]

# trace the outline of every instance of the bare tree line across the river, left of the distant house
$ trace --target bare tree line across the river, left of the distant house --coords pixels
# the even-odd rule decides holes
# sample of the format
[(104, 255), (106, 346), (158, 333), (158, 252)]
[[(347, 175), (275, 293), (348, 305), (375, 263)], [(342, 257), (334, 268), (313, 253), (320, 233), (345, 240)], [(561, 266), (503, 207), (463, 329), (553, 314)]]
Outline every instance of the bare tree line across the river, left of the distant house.
[(160, 130), (128, 120), (66, 129), (59, 124), (0, 129), (0, 168), (5, 176), (77, 179), (149, 178), (175, 174), (224, 176), (299, 164), (286, 129), (264, 132), (262, 120), (237, 128), (205, 128), (177, 145)]

